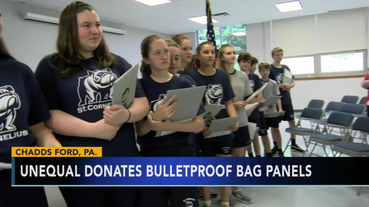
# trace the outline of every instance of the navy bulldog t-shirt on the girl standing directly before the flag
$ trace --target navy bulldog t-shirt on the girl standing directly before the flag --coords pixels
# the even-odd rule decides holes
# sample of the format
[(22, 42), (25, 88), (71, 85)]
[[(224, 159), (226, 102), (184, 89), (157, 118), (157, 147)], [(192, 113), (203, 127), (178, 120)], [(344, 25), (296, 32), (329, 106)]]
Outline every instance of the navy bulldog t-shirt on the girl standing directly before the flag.
[[(190, 71), (197, 86), (206, 86), (203, 97), (203, 106), (206, 104), (225, 105), (225, 102), (232, 100), (235, 95), (230, 83), (230, 79), (225, 71), (215, 69), (214, 75), (201, 75), (199, 71)], [(217, 119), (227, 118), (227, 109), (224, 108), (215, 116)]]

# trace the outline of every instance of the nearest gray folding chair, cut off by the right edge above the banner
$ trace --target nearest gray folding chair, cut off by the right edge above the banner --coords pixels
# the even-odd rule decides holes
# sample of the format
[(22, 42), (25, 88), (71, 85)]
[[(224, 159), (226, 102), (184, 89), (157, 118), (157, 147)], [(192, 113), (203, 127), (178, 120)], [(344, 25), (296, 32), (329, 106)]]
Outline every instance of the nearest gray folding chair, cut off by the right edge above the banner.
[[(360, 136), (366, 140), (369, 134), (369, 117), (357, 118), (352, 130), (358, 131), (361, 134)], [(340, 143), (335, 144), (333, 150), (340, 153), (339, 156), (341, 156), (341, 154), (347, 154), (353, 157), (361, 157), (369, 153), (369, 144), (358, 142)]]

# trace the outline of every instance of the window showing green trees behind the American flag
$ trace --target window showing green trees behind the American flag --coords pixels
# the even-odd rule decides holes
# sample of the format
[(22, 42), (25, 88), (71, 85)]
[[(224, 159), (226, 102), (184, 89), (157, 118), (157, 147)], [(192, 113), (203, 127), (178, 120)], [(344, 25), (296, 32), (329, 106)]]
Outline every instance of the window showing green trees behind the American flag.
[[(206, 42), (206, 32), (207, 29), (197, 31), (197, 44)], [(246, 25), (238, 24), (218, 27), (214, 28), (214, 33), (217, 49), (219, 49), (222, 44), (232, 44), (237, 51), (246, 50)]]

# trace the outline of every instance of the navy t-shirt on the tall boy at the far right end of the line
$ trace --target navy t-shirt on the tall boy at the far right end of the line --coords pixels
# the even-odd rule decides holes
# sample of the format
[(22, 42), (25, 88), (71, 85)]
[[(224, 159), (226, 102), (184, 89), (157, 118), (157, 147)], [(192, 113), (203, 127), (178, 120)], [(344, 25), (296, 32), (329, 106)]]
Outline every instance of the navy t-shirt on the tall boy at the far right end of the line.
[[(273, 64), (270, 64), (269, 78), (276, 81), (278, 85), (282, 84), (284, 69), (291, 71), (287, 65), (282, 65), (282, 68), (276, 68)], [(292, 78), (294, 78), (294, 76), (292, 76)], [(282, 90), (282, 89), (279, 89), (279, 91), (280, 91), (280, 95), (282, 96), (282, 98), (280, 99), (282, 102), (282, 105), (292, 104), (290, 92), (288, 90)]]

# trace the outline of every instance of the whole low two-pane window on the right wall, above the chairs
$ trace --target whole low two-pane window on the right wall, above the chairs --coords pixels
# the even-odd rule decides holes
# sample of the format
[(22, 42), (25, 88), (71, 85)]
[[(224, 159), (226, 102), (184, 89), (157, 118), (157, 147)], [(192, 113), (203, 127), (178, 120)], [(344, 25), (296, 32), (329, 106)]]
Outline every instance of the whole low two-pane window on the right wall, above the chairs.
[(366, 50), (284, 57), (281, 64), (288, 65), (297, 77), (363, 74), (366, 71)]

